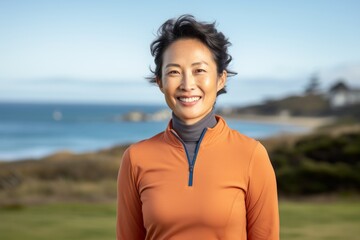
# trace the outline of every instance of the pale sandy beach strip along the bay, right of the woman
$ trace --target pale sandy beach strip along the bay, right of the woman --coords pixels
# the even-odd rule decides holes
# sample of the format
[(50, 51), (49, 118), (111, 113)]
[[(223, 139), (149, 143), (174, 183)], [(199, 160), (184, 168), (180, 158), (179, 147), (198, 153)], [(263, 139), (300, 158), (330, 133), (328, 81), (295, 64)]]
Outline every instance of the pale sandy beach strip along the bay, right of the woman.
[(231, 115), (225, 116), (225, 118), (257, 123), (288, 124), (308, 128), (309, 130), (324, 126), (334, 121), (334, 118), (332, 117), (293, 117), (279, 115), (265, 116), (253, 114)]

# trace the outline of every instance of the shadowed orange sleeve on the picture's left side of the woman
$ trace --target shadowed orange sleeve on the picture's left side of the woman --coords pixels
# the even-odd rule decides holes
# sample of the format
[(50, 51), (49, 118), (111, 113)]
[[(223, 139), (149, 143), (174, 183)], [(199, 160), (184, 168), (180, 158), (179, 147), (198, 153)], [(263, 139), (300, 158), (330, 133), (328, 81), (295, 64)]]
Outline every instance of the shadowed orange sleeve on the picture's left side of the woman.
[(129, 149), (123, 155), (117, 184), (117, 240), (143, 240), (146, 230)]

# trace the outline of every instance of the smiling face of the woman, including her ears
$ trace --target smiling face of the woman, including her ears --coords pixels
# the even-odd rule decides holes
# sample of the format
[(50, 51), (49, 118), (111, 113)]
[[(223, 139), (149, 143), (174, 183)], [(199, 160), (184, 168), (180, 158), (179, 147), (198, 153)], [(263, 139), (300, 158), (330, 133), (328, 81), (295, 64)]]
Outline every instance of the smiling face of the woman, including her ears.
[(211, 51), (196, 39), (179, 39), (164, 52), (160, 90), (174, 114), (191, 125), (213, 108), (227, 73), (219, 76)]

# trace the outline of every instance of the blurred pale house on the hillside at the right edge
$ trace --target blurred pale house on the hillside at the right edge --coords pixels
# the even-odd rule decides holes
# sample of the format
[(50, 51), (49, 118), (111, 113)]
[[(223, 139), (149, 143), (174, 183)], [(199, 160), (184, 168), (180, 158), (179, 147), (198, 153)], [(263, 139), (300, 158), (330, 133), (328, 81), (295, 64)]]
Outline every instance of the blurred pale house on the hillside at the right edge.
[(349, 88), (343, 81), (334, 84), (328, 93), (333, 108), (360, 103), (360, 89)]

